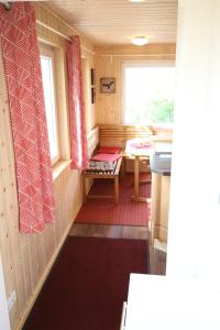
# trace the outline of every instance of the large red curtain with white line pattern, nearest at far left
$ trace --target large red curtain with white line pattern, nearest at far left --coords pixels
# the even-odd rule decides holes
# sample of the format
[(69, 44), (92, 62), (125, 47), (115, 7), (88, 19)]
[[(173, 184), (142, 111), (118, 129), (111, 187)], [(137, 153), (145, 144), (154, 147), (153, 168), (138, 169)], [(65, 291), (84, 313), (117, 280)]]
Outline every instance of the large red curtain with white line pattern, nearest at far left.
[(34, 7), (0, 4), (0, 38), (9, 94), (20, 231), (41, 232), (53, 221), (54, 198)]

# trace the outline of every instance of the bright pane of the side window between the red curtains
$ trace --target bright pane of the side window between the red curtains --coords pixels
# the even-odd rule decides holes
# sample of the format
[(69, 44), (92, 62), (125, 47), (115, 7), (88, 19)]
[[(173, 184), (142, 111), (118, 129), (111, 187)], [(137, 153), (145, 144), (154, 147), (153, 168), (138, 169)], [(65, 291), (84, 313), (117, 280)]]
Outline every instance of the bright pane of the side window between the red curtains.
[(46, 121), (48, 130), (48, 141), (52, 164), (54, 165), (59, 158), (58, 131), (57, 131), (57, 112), (55, 101), (54, 85), (54, 53), (48, 50), (41, 50), (41, 67), (44, 88), (44, 99), (46, 108)]

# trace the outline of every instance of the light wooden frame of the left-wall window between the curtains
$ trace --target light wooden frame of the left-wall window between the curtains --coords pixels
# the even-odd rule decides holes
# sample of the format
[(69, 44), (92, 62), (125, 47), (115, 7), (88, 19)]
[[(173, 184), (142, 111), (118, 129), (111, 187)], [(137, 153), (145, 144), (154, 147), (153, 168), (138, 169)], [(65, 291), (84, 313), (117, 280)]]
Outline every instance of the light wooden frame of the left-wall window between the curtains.
[[(40, 57), (46, 57), (52, 59), (52, 79), (53, 79), (53, 92), (54, 92), (54, 112), (55, 112), (55, 130), (56, 130), (56, 157), (51, 157), (52, 166), (55, 166), (61, 160), (61, 141), (59, 141), (59, 128), (58, 128), (58, 109), (57, 109), (57, 88), (56, 88), (56, 69), (55, 69), (55, 48), (45, 44), (40, 44)], [(46, 110), (46, 109), (45, 109)]]

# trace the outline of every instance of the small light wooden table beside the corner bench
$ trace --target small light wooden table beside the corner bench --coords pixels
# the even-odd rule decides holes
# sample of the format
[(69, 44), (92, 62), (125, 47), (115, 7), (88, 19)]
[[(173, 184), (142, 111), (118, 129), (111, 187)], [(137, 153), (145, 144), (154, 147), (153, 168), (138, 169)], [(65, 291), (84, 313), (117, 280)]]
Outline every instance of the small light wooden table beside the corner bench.
[(140, 143), (148, 143), (146, 139), (128, 140), (125, 145), (124, 156), (134, 160), (134, 195), (132, 199), (135, 201), (147, 201), (146, 198), (140, 196), (140, 184), (151, 183), (151, 178), (147, 180), (140, 180), (140, 162), (148, 161), (151, 147), (139, 147)]

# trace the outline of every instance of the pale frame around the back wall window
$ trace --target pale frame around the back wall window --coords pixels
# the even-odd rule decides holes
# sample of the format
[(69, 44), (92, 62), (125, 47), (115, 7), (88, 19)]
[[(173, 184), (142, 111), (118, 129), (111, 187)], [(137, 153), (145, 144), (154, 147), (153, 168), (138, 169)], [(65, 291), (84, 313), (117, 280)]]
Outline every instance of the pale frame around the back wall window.
[[(125, 123), (125, 74), (124, 70), (127, 67), (164, 67), (170, 66), (176, 67), (176, 62), (174, 59), (161, 59), (161, 61), (123, 61), (121, 64), (121, 113), (120, 113), (120, 122), (123, 125), (139, 125), (134, 123)], [(173, 123), (150, 123), (145, 125), (160, 125), (160, 127), (173, 127)]]

